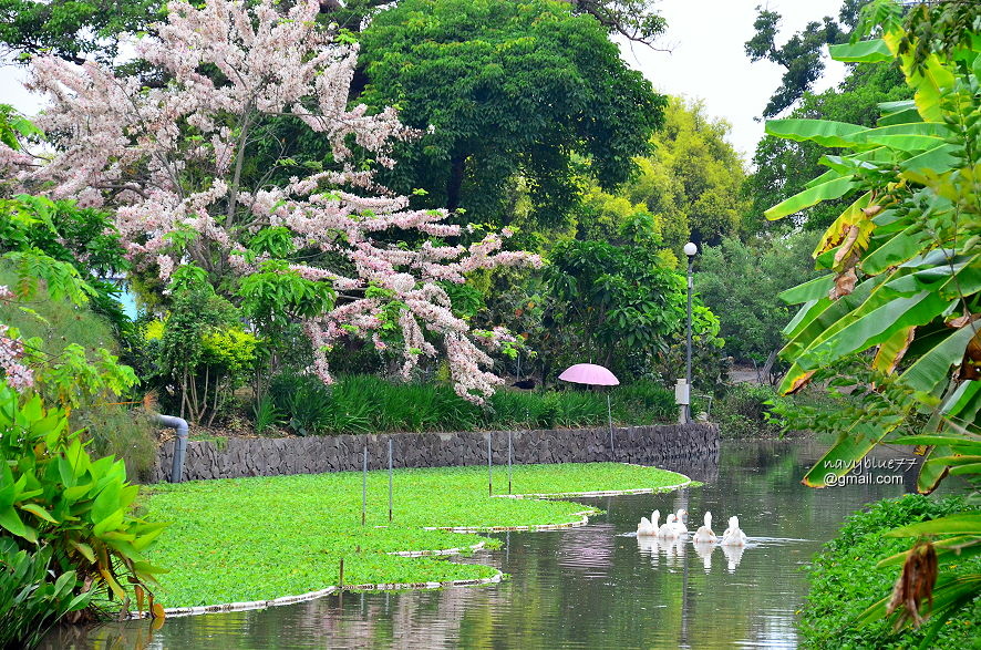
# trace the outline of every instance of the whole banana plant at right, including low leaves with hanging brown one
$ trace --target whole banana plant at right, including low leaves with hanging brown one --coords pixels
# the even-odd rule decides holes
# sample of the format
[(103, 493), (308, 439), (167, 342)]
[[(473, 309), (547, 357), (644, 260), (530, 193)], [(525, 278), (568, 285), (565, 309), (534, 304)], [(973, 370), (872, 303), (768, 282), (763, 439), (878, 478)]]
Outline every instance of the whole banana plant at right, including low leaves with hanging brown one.
[[(944, 476), (960, 475), (973, 485), (977, 501), (981, 35), (969, 34), (938, 54), (932, 44), (892, 24), (880, 39), (833, 45), (830, 52), (845, 62), (898, 62), (913, 99), (880, 104), (875, 127), (822, 120), (767, 123), (770, 134), (846, 149), (824, 156), (828, 171), (770, 208), (768, 218), (822, 200), (851, 199), (814, 251), (818, 266), (829, 272), (782, 295), (802, 307), (784, 329), (782, 355), (792, 365), (781, 391), (798, 391), (815, 376), (825, 378), (836, 363), (857, 359), (864, 368), (856, 374), (872, 378), (865, 394), (879, 394), (882, 399), (875, 403), (886, 404), (847, 422), (838, 419), (836, 443), (803, 482), (824, 487), (888, 441), (918, 445), (927, 456), (919, 492), (928, 494)], [(897, 626), (906, 620), (919, 625), (919, 602), (929, 598), (933, 620), (923, 641), (928, 647), (948, 618), (981, 591), (981, 575), (938, 571), (946, 563), (981, 553), (981, 512), (921, 522), (890, 535), (916, 541), (880, 563), (902, 565), (902, 574), (892, 595), (857, 622), (898, 611)]]

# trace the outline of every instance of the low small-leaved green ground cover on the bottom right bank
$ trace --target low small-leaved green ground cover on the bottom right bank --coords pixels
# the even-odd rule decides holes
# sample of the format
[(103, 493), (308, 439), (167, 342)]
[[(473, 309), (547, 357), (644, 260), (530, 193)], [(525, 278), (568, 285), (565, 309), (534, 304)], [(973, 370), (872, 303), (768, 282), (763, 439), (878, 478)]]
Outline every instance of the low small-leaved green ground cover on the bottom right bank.
[[(810, 590), (798, 630), (807, 648), (916, 648), (925, 630), (907, 627), (894, 631), (891, 620), (856, 627), (858, 618), (874, 602), (888, 595), (900, 567), (876, 568), (897, 553), (909, 549), (910, 539), (887, 537), (899, 526), (936, 519), (964, 509), (962, 498), (933, 499), (908, 494), (877, 502), (867, 512), (851, 515), (838, 536), (825, 545), (809, 567)], [(954, 559), (949, 568), (956, 572), (981, 570), (981, 557)], [(931, 648), (977, 647), (977, 629), (981, 625), (981, 601), (962, 609), (933, 639)]]

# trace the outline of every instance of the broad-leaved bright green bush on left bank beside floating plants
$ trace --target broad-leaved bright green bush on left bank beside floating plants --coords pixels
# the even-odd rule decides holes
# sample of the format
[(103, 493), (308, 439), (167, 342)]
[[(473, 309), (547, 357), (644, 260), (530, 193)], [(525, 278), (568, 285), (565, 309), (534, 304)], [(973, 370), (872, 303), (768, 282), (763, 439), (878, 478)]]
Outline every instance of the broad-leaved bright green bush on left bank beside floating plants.
[(6, 382), (0, 456), (7, 461), (0, 464), (0, 534), (21, 548), (50, 547), (52, 571), (75, 571), (75, 589), (85, 586), (92, 594), (90, 610), (114, 598), (126, 609), (126, 582), (137, 607), (148, 595), (151, 609), (158, 610), (147, 582), (161, 569), (141, 553), (166, 525), (130, 514), (140, 488), (126, 482), (122, 461), (93, 461), (79, 433), (69, 433), (62, 409), (45, 409), (38, 395), (21, 398)]

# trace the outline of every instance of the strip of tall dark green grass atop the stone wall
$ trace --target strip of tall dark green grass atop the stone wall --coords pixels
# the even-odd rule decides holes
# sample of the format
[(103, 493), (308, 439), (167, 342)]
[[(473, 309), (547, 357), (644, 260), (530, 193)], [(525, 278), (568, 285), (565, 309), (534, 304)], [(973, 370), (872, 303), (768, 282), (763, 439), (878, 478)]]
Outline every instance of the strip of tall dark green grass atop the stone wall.
[[(270, 394), (290, 427), (313, 433), (474, 431), (479, 429), (554, 429), (607, 422), (607, 396), (584, 389), (547, 392), (499, 390), (483, 406), (448, 385), (394, 383), (355, 374), (324, 389), (316, 378), (281, 375)], [(610, 393), (618, 424), (671, 421), (674, 398), (653, 382), (636, 382)]]

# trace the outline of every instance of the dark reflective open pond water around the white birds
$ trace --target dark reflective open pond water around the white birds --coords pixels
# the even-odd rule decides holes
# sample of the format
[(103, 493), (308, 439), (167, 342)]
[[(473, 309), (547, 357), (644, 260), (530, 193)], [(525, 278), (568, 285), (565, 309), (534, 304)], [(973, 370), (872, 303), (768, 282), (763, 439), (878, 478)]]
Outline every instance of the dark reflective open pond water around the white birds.
[[(560, 532), (502, 534), (504, 547), (461, 561), (510, 575), (491, 587), (328, 596), (267, 610), (60, 631), (48, 648), (793, 648), (804, 567), (844, 517), (906, 492), (899, 484), (808, 489), (799, 484), (824, 446), (809, 441), (727, 441), (717, 464), (678, 471), (702, 487), (661, 495), (579, 499), (606, 514)], [(888, 452), (886, 456), (888, 457)], [(901, 454), (896, 454), (901, 457)], [(874, 472), (875, 474), (875, 472)], [(713, 513), (716, 532), (739, 515), (742, 553), (700, 556), (634, 535), (659, 508)]]

